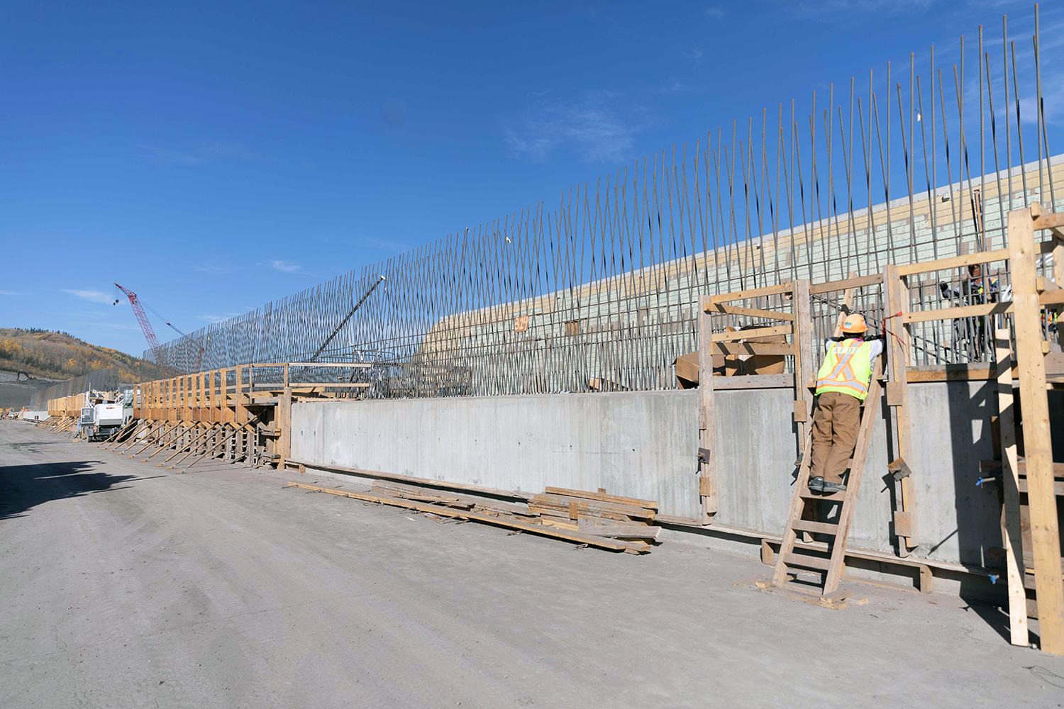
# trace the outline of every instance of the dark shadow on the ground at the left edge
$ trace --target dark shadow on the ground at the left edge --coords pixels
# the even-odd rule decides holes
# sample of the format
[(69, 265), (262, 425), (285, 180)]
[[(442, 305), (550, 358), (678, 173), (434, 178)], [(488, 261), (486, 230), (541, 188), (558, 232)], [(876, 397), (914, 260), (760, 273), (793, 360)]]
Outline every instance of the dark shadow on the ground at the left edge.
[[(138, 478), (98, 472), (99, 460), (0, 466), (0, 520), (24, 517), (38, 505), (79, 497), (90, 492), (121, 489), (115, 485)], [(89, 472), (92, 471), (92, 472)]]

